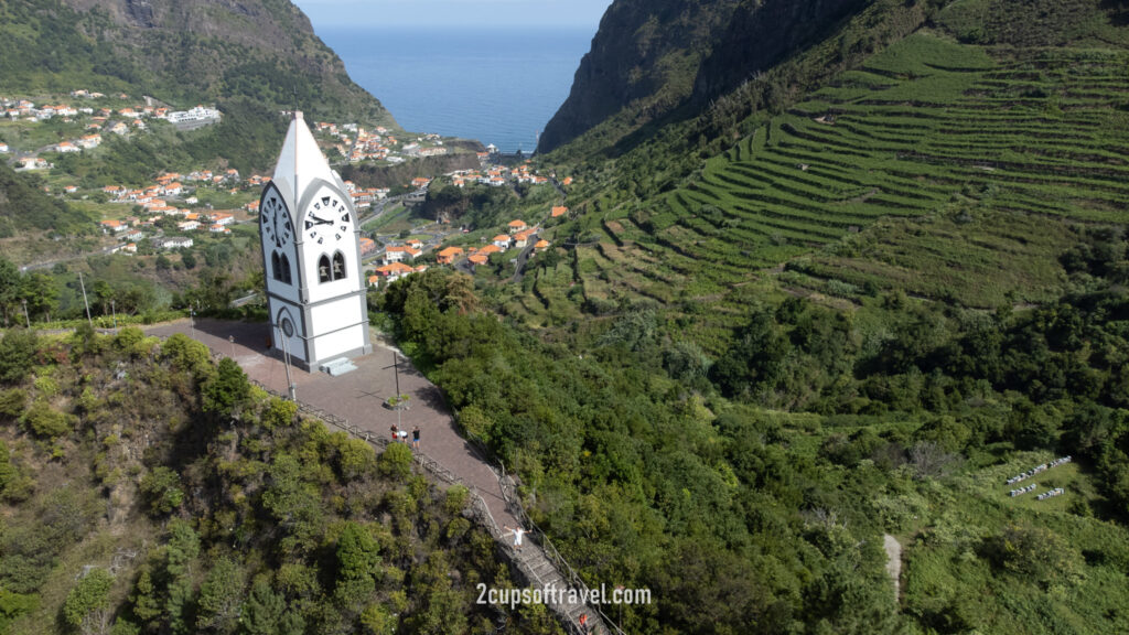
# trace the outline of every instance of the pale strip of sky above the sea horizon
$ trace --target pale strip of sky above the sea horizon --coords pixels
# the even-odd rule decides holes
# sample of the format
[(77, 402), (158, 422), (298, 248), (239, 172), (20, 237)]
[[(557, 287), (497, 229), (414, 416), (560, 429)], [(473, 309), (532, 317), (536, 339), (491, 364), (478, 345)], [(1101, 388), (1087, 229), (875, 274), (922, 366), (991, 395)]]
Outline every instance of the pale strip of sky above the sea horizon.
[(611, 0), (294, 0), (314, 28), (338, 26), (587, 27)]

